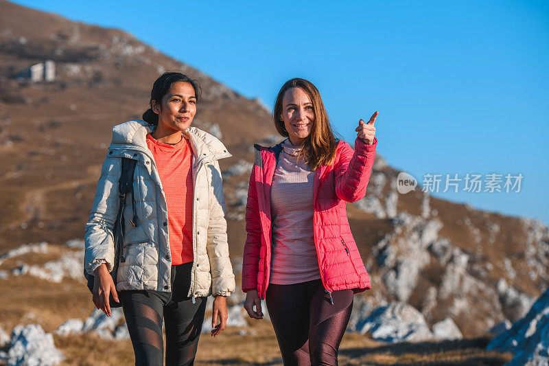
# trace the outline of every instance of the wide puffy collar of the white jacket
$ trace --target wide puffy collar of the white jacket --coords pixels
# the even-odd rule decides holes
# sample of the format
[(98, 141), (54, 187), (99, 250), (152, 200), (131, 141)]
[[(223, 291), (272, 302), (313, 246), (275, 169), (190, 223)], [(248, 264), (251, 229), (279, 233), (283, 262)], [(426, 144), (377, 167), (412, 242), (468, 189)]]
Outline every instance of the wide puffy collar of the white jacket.
[[(155, 128), (156, 126), (141, 119), (118, 124), (113, 127), (113, 139), (110, 141), (109, 150), (139, 150), (151, 157), (146, 136), (154, 132)], [(183, 137), (191, 142), (196, 161), (205, 158), (218, 160), (232, 156), (219, 139), (199, 128), (187, 128), (183, 131)]]

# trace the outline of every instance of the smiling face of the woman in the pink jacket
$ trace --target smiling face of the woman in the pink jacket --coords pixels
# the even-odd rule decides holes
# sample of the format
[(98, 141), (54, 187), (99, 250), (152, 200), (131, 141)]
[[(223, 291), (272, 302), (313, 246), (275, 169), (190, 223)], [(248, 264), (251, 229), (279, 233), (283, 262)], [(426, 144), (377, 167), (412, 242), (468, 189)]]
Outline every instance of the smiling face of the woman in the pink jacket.
[(314, 123), (314, 106), (309, 94), (301, 88), (285, 91), (280, 119), (284, 122), (292, 145), (303, 144)]

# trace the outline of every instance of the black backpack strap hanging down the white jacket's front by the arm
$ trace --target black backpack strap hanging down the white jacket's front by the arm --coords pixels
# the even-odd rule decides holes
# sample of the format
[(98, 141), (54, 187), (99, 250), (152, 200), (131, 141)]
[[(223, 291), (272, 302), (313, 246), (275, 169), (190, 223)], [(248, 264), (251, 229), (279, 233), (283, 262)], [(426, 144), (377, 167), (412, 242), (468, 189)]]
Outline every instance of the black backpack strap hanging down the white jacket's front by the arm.
[(132, 225), (137, 226), (137, 216), (135, 214), (135, 198), (133, 196), (133, 174), (135, 172), (135, 164), (137, 160), (129, 159), (126, 157), (121, 158), (122, 171), (120, 179), (118, 181), (118, 198), (120, 199), (118, 215), (115, 223), (115, 266), (118, 266), (117, 257), (119, 256), (120, 262), (126, 262), (124, 258), (124, 208), (126, 208), (126, 196), (128, 193), (132, 195), (132, 213), (133, 218), (130, 219)]

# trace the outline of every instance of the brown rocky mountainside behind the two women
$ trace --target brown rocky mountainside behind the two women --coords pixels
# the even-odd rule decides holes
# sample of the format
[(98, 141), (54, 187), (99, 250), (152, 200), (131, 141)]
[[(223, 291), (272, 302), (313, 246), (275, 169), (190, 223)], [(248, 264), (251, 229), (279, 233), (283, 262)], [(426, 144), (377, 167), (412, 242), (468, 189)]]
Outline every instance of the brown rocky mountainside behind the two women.
[[(54, 62), (54, 80), (32, 81), (30, 69), (46, 60)], [(231, 258), (239, 271), (251, 146), (281, 139), (270, 111), (126, 32), (0, 0), (5, 330), (41, 319), (51, 332), (90, 313), (87, 289), (71, 269), (78, 254), (65, 243), (82, 238), (110, 128), (139, 117), (152, 82), (174, 69), (202, 84), (195, 124), (220, 137), (233, 154), (221, 164)], [(383, 149), (379, 141), (366, 197), (347, 209), (372, 282), (371, 290), (355, 297), (351, 328), (373, 339), (382, 334), (384, 341), (469, 338), (524, 317), (549, 284), (548, 228), (539, 220), (443, 201), (419, 187), (399, 194), (399, 170), (383, 159)], [(41, 251), (40, 242), (48, 249)], [(67, 292), (71, 306), (63, 301)], [(238, 301), (242, 293), (235, 295)], [(389, 318), (422, 335), (379, 330), (379, 319)]]

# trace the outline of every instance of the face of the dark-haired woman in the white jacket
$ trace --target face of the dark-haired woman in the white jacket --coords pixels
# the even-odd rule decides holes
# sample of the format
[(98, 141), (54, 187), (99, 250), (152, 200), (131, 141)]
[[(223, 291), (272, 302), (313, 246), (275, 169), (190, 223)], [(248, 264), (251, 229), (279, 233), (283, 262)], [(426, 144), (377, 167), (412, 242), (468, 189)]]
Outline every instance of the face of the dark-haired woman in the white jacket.
[(196, 115), (194, 88), (188, 82), (174, 82), (160, 103), (152, 101), (152, 111), (159, 115), (160, 130), (167, 133), (186, 130)]

